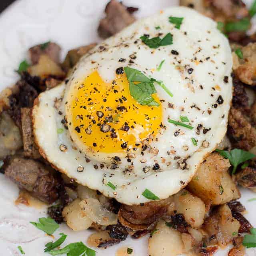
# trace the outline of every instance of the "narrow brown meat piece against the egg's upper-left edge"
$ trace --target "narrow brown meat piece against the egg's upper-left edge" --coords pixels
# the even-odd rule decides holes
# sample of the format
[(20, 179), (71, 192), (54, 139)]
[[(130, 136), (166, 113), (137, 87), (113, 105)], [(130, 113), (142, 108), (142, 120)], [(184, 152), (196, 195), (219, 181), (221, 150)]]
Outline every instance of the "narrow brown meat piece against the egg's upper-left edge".
[(70, 68), (73, 68), (78, 60), (80, 60), (82, 56), (84, 56), (89, 50), (91, 50), (95, 46), (96, 43), (93, 43), (70, 50), (66, 55), (64, 62), (61, 64), (62, 68), (66, 71), (68, 71)]

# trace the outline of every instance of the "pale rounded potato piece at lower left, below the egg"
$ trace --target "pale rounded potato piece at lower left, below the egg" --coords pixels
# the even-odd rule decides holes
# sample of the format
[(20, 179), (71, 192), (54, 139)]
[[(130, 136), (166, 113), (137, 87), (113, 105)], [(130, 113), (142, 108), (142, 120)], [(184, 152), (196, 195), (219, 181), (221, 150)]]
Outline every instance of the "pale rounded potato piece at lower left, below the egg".
[(81, 210), (79, 203), (80, 199), (74, 200), (71, 204), (68, 204), (62, 212), (62, 216), (64, 220), (66, 220), (67, 225), (74, 231), (86, 230), (92, 225), (92, 220)]

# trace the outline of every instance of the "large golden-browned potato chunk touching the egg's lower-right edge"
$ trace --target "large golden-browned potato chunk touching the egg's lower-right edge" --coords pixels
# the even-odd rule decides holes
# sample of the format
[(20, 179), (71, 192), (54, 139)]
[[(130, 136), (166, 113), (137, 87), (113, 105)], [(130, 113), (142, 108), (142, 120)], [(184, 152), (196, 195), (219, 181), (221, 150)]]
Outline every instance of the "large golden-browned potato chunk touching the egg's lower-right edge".
[(240, 198), (240, 192), (228, 174), (229, 167), (228, 159), (212, 153), (198, 168), (186, 188), (204, 202), (215, 205)]

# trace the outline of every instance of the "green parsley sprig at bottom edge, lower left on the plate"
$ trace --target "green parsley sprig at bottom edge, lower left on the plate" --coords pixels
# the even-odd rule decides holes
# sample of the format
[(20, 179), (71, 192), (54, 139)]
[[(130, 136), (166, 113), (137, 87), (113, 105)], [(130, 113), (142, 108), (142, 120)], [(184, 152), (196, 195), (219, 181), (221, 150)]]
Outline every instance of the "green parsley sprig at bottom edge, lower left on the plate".
[(91, 248), (88, 248), (86, 245), (84, 245), (83, 242), (77, 242), (77, 243), (72, 243), (68, 244), (62, 249), (59, 250), (50, 250), (49, 253), (51, 255), (59, 255), (59, 254), (64, 254), (66, 253), (67, 256), (95, 256), (96, 252), (92, 250)]

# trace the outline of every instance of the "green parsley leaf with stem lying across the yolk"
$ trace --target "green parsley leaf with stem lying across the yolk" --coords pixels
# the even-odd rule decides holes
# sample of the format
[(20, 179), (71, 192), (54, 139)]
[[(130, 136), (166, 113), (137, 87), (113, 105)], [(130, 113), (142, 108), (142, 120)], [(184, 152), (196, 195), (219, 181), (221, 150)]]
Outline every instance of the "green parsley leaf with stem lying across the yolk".
[(160, 85), (170, 96), (172, 96), (172, 93), (166, 88), (162, 81), (148, 78), (135, 68), (125, 67), (124, 72), (129, 81), (130, 94), (139, 104), (159, 106), (158, 102), (152, 97), (152, 94), (156, 93), (154, 82)]

